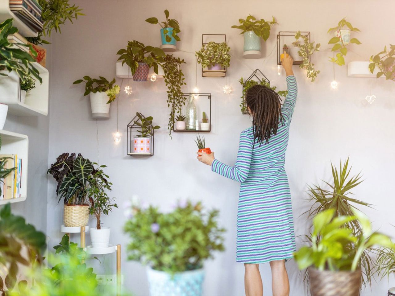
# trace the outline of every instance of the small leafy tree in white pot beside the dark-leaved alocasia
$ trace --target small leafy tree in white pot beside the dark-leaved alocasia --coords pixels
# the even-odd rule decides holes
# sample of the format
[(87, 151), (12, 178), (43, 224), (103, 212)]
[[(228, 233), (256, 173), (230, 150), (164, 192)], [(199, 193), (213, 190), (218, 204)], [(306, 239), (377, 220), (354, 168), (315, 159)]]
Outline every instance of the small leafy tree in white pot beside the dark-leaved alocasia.
[[(93, 163), (97, 165), (97, 163)], [(106, 191), (111, 191), (111, 182), (103, 172), (105, 165), (101, 165), (93, 174), (88, 176), (89, 187), (87, 189), (87, 197), (90, 203), (89, 212), (96, 217), (96, 228), (90, 229), (90, 241), (92, 248), (106, 248), (110, 240), (110, 228), (101, 226), (102, 215), (108, 215), (113, 208), (118, 208), (114, 203), (114, 199), (108, 197)]]

